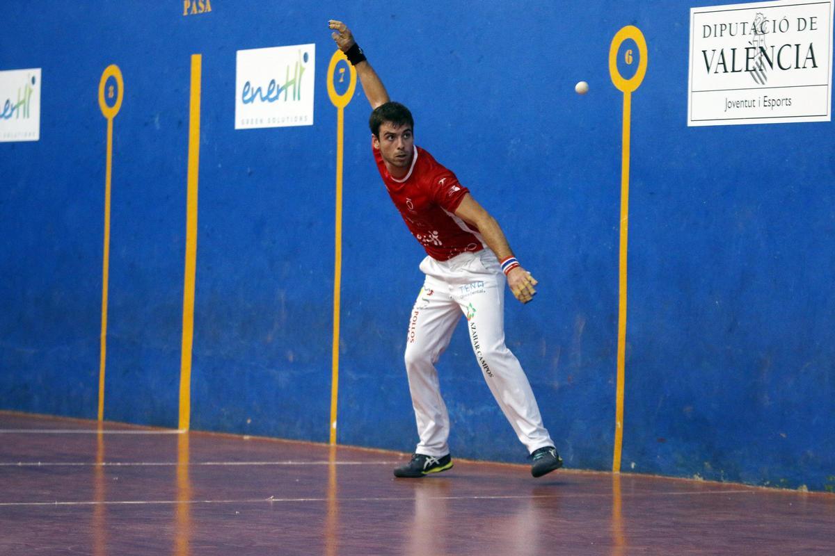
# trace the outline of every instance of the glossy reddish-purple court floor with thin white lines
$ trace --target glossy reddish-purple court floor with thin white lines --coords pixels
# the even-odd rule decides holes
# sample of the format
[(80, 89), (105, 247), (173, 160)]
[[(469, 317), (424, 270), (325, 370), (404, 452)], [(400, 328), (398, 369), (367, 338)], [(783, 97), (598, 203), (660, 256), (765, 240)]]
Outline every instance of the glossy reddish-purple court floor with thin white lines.
[(0, 412), (0, 554), (835, 554), (835, 495)]

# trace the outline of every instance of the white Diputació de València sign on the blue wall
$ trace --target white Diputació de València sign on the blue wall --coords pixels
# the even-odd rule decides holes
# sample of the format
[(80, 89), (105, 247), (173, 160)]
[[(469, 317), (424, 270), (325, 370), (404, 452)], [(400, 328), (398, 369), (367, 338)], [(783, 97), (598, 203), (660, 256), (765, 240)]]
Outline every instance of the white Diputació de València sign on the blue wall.
[(832, 119), (832, 0), (691, 8), (687, 125)]

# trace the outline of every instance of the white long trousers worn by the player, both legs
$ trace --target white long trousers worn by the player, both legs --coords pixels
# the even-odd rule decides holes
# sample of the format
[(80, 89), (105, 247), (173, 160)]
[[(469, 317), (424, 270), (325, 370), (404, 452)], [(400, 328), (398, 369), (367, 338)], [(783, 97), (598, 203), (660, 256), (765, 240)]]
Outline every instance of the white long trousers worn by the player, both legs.
[(449, 416), (438, 384), (438, 362), (461, 314), (467, 318), (478, 368), (519, 441), (533, 452), (554, 446), (519, 360), (504, 345), (505, 278), (492, 251), (462, 253), (448, 261), (423, 259), (426, 274), (409, 319), (406, 372), (420, 442), (415, 452), (449, 453)]

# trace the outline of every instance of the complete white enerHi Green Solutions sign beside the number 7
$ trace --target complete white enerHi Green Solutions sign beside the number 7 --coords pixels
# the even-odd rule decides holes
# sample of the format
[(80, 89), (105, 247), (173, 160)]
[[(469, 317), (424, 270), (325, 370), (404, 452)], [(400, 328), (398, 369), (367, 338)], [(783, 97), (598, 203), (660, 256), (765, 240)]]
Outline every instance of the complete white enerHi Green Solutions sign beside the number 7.
[(316, 45), (239, 50), (235, 129), (313, 125)]

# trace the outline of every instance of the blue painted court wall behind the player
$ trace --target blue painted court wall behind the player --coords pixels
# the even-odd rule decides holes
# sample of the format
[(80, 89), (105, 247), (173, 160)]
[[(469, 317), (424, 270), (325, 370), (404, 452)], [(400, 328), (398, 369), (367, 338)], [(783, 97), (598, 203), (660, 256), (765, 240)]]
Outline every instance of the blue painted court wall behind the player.
[[(620, 131), (611, 39), (644, 33), (632, 98), (623, 469), (835, 488), (832, 123), (688, 128), (689, 8), (713, 2), (214, 0), (4, 4), (0, 70), (42, 68), (40, 140), (0, 143), (0, 408), (95, 418), (115, 63), (104, 417), (176, 427), (190, 56), (202, 55), (191, 427), (326, 442), (341, 18), (417, 143), (539, 279), (509, 346), (571, 468), (615, 437)], [(235, 52), (316, 44), (314, 125), (235, 130)], [(574, 83), (590, 93), (574, 93)], [(2, 101), (2, 99), (0, 99)], [(402, 368), (422, 249), (345, 111), (338, 440), (411, 451)], [(524, 461), (458, 329), (439, 363), (459, 457)]]

